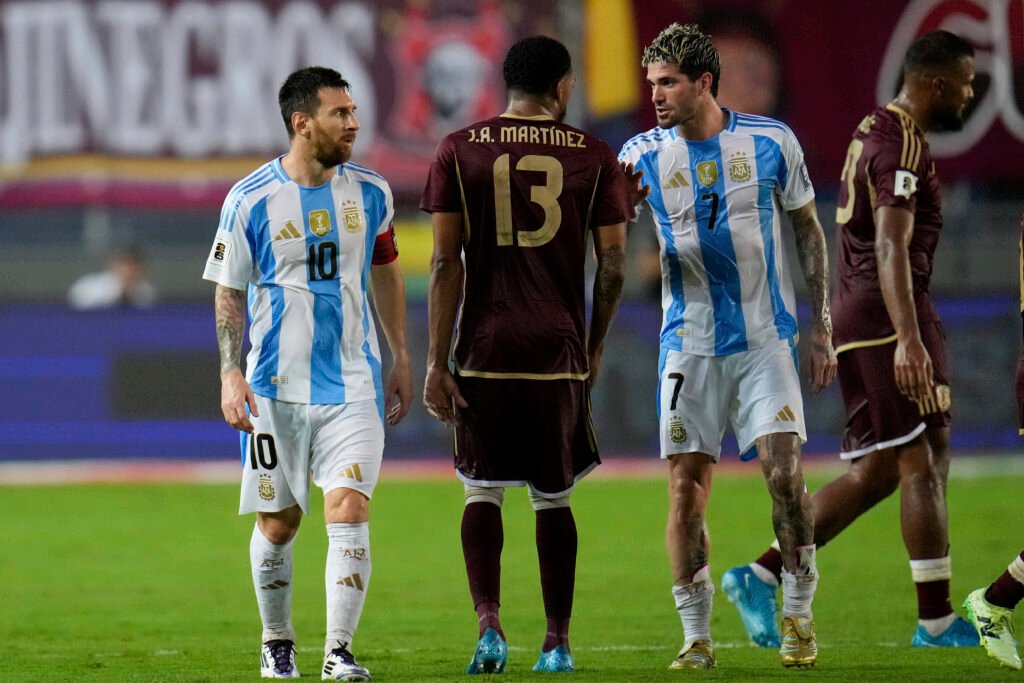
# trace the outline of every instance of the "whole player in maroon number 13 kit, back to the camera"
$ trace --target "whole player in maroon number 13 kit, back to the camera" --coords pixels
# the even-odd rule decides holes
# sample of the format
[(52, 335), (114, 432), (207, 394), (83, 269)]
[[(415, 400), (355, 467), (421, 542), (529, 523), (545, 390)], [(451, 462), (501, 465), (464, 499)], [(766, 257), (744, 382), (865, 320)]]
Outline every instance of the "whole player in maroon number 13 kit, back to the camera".
[[(501, 505), (505, 486), (521, 485), (537, 511), (548, 617), (535, 670), (564, 672), (573, 669), (569, 492), (599, 462), (589, 388), (622, 294), (632, 208), (614, 154), (561, 123), (574, 84), (565, 47), (524, 39), (509, 50), (504, 73), (508, 110), (445, 137), (423, 193), (434, 231), (423, 394), (431, 414), (455, 425), (466, 489), (463, 553), (479, 621), (467, 673), (505, 668)], [(588, 332), (591, 236), (597, 276)]]

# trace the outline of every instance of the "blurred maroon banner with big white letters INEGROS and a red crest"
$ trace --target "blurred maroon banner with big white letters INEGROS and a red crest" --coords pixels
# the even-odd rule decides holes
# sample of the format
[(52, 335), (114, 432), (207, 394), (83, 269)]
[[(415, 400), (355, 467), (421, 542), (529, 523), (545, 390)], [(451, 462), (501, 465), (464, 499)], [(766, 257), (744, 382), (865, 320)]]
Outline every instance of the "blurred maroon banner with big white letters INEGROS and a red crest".
[(422, 189), (439, 137), (504, 106), (501, 62), (555, 3), (0, 1), (0, 207), (219, 205), (287, 151), (278, 87), (338, 69), (355, 155)]

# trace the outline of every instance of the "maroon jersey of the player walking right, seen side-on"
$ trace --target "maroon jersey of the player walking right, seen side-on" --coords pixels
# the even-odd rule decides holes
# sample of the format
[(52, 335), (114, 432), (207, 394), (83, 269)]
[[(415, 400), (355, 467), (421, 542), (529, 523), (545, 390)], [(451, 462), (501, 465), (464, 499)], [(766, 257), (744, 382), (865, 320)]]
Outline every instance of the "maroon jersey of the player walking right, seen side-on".
[(884, 206), (913, 214), (908, 251), (918, 321), (938, 321), (928, 289), (942, 229), (939, 180), (924, 131), (892, 104), (860, 122), (840, 181), (839, 287), (833, 305), (837, 348), (896, 334), (882, 298), (874, 256), (874, 211)]

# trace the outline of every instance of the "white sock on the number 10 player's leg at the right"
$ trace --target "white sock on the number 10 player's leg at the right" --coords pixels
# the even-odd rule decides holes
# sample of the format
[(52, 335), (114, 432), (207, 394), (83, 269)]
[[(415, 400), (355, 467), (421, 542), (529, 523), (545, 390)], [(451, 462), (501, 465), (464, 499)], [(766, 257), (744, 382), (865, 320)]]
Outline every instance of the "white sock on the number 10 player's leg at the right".
[(327, 644), (349, 646), (370, 586), (369, 522), (327, 525)]

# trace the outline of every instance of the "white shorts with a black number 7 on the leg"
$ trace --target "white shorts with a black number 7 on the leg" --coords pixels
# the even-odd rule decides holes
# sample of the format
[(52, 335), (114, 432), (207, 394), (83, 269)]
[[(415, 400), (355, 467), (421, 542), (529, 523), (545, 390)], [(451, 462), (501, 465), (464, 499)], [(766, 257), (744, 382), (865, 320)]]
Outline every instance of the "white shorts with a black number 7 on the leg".
[(729, 355), (662, 349), (657, 400), (662, 458), (703, 453), (718, 462), (731, 423), (745, 453), (759, 436), (796, 432), (807, 440), (793, 346), (778, 340)]

